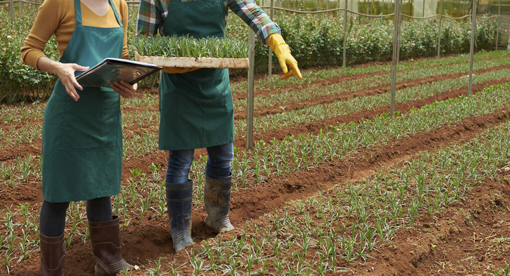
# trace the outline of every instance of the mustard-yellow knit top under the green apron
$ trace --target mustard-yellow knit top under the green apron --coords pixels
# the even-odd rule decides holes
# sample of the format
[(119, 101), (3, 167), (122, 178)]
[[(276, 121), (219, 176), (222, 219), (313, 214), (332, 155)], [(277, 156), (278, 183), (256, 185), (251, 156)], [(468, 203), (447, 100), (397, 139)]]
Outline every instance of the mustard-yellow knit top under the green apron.
[[(105, 15), (99, 16), (91, 11), (87, 5), (82, 2), (80, 3), (83, 25), (94, 27), (119, 26), (111, 6)], [(117, 9), (120, 21), (124, 27), (122, 58), (127, 59), (127, 4), (124, 0), (113, 0), (113, 4)], [(23, 47), (21, 48), (21, 59), (23, 62), (38, 69), (37, 61), (39, 58), (45, 56), (44, 47), (53, 34), (55, 34), (60, 57), (62, 57), (67, 44), (69, 44), (69, 40), (71, 40), (75, 25), (76, 13), (72, 0), (45, 0), (39, 8), (32, 30), (30, 30), (29, 36), (25, 38)]]

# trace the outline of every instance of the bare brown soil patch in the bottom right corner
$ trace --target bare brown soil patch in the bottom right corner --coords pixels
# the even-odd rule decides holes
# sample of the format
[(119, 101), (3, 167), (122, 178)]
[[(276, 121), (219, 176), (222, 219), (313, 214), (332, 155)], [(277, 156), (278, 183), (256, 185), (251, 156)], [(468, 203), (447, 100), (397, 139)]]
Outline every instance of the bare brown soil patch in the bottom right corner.
[[(477, 184), (441, 213), (423, 212), (413, 228), (399, 230), (392, 242), (354, 268), (365, 275), (494, 274), (510, 260), (510, 174)], [(432, 247), (433, 246), (433, 247)], [(500, 271), (500, 275), (503, 273)]]

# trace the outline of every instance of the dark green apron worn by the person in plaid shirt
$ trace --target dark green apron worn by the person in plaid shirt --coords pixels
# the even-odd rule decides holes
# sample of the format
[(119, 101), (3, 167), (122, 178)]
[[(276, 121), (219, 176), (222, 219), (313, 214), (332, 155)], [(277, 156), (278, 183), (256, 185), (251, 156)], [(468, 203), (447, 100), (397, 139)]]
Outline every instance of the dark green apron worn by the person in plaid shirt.
[[(222, 0), (172, 0), (165, 35), (195, 38), (225, 36)], [(162, 71), (159, 148), (186, 150), (234, 141), (234, 104), (228, 69), (198, 69), (184, 74)]]

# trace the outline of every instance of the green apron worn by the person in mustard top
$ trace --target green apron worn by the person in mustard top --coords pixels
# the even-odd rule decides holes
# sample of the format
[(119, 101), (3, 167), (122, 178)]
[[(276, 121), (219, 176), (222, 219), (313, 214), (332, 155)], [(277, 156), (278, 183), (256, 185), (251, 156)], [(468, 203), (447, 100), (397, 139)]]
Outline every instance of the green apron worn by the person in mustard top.
[[(80, 0), (74, 0), (76, 26), (60, 62), (94, 66), (120, 58), (124, 29), (82, 25)], [(75, 72), (79, 74), (80, 72)], [(119, 94), (112, 89), (77, 89), (75, 102), (57, 80), (44, 109), (42, 126), (42, 196), (69, 202), (116, 195), (120, 191), (122, 133)]]

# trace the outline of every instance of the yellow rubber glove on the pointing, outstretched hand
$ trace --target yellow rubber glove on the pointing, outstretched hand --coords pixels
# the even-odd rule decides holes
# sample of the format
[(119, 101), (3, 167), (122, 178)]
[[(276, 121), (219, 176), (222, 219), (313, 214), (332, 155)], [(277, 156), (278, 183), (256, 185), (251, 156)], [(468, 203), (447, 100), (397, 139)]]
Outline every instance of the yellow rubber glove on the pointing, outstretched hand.
[(268, 44), (276, 54), (280, 67), (282, 67), (284, 71), (284, 75), (280, 77), (280, 79), (286, 79), (293, 75), (297, 75), (297, 77), (301, 79), (302, 76), (301, 72), (299, 72), (299, 68), (297, 68), (297, 61), (292, 57), (292, 54), (290, 54), (289, 45), (285, 43), (282, 35), (278, 33), (270, 35)]

